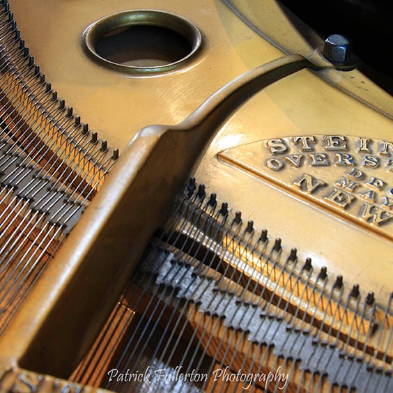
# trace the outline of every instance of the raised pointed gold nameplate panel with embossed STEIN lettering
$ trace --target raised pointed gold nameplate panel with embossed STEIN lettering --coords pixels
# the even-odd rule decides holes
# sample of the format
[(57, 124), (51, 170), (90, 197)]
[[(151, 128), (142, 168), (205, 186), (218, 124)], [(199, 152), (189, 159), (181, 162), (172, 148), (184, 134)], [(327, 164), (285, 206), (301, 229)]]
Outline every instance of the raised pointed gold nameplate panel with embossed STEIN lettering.
[(279, 137), (219, 153), (229, 164), (393, 240), (393, 143)]

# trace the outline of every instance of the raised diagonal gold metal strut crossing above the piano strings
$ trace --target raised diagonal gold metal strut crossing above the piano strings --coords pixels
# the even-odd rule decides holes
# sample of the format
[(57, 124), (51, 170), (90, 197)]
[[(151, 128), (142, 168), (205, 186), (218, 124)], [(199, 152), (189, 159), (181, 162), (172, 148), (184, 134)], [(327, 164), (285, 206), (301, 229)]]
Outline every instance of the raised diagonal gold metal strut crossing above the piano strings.
[[(1, 355), (53, 375), (71, 373), (215, 130), (256, 91), (308, 66), (302, 56), (277, 59), (224, 86), (177, 127), (138, 132), (57, 254), (61, 263), (48, 266), (3, 334)], [(67, 354), (63, 337), (80, 353), (70, 346)]]

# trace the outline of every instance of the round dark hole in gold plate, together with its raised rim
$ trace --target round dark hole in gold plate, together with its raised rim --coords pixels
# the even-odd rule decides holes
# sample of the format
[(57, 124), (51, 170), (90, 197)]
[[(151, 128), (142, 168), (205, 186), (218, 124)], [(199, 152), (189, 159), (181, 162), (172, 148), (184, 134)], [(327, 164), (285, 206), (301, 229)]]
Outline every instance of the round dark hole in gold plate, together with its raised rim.
[(155, 10), (112, 14), (84, 32), (84, 43), (93, 59), (141, 75), (184, 66), (201, 47), (201, 41), (201, 33), (192, 22)]

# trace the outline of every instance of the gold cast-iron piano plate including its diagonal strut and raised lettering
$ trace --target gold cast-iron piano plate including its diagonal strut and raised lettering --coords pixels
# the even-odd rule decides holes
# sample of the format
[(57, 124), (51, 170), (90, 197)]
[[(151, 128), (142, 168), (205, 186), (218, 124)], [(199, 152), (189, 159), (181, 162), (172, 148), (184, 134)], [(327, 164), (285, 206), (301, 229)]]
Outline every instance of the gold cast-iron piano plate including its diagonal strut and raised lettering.
[[(357, 306), (343, 311), (346, 324), (337, 322), (334, 311), (321, 312), (330, 300), (302, 298), (308, 281), (288, 293), (286, 284), (277, 284), (293, 281), (284, 268), (282, 281), (262, 279), (258, 270), (248, 273), (257, 256), (224, 237), (248, 278), (265, 280), (268, 291), (277, 290), (283, 302), (318, 323), (342, 329), (348, 341), (390, 346), (391, 356), (389, 337), (378, 342), (368, 332), (373, 317), (391, 323), (382, 310), (393, 284), (392, 97), (357, 69), (335, 70), (321, 54), (321, 38), (311, 32), (306, 41), (275, 1), (147, 0), (139, 13), (140, 6), (125, 0), (10, 1), (46, 79), (100, 138), (120, 149), (121, 159), (0, 338), (1, 364), (68, 378), (188, 174), (233, 211), (241, 210), (258, 231), (279, 237), (283, 255), (296, 247), (297, 258), (311, 258), (315, 272), (327, 268), (329, 285), (342, 275), (346, 290), (358, 284), (363, 302), (373, 291), (382, 308), (360, 318), (356, 336)], [(121, 27), (116, 15), (139, 15), (146, 22), (146, 12), (153, 19), (164, 15), (154, 23), (180, 33), (173, 15), (196, 26), (185, 33), (193, 48), (186, 61), (132, 73), (88, 54), (85, 38), (93, 46), (98, 39), (88, 36), (88, 26), (108, 18)], [(98, 36), (108, 29), (112, 25)], [(236, 113), (222, 124), (234, 107)], [(144, 128), (148, 124), (164, 126)], [(192, 233), (184, 234), (192, 239)], [(235, 267), (229, 257), (226, 263)], [(190, 308), (190, 325), (203, 336), (195, 312)], [(279, 307), (271, 312), (279, 313)], [(227, 338), (226, 350), (230, 343)], [(260, 348), (247, 345), (244, 353), (258, 353)], [(212, 348), (210, 355), (219, 350)]]

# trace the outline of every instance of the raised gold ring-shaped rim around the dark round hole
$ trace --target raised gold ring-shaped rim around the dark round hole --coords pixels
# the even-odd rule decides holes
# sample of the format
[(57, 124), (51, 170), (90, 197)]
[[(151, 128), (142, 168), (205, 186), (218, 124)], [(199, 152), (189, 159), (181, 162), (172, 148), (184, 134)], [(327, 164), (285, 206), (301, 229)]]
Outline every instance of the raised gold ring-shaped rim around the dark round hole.
[[(190, 43), (190, 52), (181, 59), (160, 66), (131, 66), (106, 59), (98, 54), (95, 45), (106, 34), (131, 26), (158, 26), (180, 34)], [(84, 48), (95, 61), (120, 72), (132, 75), (155, 75), (177, 70), (187, 66), (202, 47), (203, 38), (199, 28), (175, 13), (162, 10), (126, 10), (113, 13), (90, 24), (83, 33)]]

